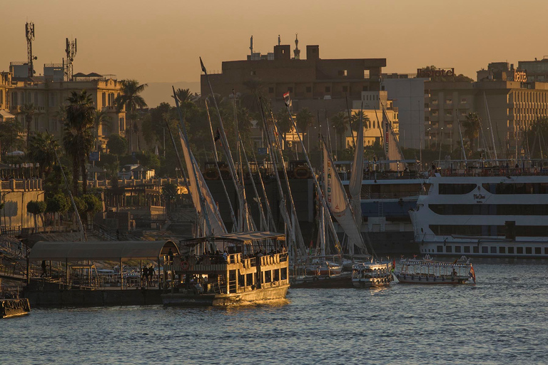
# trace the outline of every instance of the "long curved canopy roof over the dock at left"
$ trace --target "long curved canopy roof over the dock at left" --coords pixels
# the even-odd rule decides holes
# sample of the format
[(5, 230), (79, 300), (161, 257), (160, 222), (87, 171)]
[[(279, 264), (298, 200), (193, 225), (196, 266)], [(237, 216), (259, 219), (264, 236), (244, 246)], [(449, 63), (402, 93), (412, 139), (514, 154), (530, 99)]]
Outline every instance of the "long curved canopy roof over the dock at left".
[(36, 242), (32, 247), (31, 261), (83, 261), (121, 259), (158, 259), (179, 250), (172, 241), (107, 241), (107, 242)]

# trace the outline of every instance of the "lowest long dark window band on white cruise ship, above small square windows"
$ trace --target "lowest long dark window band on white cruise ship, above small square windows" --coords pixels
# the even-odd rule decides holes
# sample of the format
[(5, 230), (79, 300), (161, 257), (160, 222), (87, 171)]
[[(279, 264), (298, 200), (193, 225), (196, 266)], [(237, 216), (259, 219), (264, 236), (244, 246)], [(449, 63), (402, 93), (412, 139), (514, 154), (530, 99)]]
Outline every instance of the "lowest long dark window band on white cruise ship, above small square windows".
[(435, 235), (444, 236), (548, 237), (548, 226), (542, 225), (429, 225), (428, 227)]

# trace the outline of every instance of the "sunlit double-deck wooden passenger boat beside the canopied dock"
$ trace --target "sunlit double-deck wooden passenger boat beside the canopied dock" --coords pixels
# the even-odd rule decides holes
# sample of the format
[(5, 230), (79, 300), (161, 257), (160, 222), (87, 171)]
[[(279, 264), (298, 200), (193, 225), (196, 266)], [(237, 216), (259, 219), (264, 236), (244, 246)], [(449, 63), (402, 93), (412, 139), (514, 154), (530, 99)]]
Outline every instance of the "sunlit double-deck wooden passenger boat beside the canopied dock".
[(282, 241), (285, 235), (275, 232), (186, 240), (188, 252), (173, 257), (173, 284), (171, 293), (162, 295), (163, 304), (226, 306), (284, 299), (289, 278)]

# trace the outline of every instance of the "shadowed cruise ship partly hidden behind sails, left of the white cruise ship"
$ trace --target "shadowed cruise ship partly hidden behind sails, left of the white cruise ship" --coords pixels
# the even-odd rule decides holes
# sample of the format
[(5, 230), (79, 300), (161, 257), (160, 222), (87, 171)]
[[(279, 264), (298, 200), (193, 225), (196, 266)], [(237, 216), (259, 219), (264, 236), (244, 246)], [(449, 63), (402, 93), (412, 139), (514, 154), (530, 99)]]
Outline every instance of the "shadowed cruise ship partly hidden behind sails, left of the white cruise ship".
[[(335, 162), (342, 185), (350, 183), (352, 161)], [(362, 179), (362, 232), (377, 255), (418, 252), (409, 211), (415, 209), (427, 174), (417, 160), (365, 161)]]

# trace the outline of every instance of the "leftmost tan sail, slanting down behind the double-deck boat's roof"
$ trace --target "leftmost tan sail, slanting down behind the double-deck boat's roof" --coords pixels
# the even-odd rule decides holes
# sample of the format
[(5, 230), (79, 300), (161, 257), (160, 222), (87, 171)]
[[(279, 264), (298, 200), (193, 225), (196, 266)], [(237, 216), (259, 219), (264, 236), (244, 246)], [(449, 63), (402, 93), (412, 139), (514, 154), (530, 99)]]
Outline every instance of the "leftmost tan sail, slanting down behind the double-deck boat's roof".
[[(191, 148), (186, 142), (183, 133), (179, 130), (181, 145), (183, 146), (183, 155), (185, 158), (186, 168), (188, 169), (189, 187), (191, 189), (192, 202), (198, 216), (203, 215), (209, 221), (210, 229), (205, 226), (206, 235), (223, 235), (228, 233), (225, 224), (220, 217), (220, 212), (213, 196), (209, 191), (208, 185), (205, 183), (203, 175), (198, 168), (198, 163), (192, 154)], [(203, 201), (201, 201), (203, 199)]]

